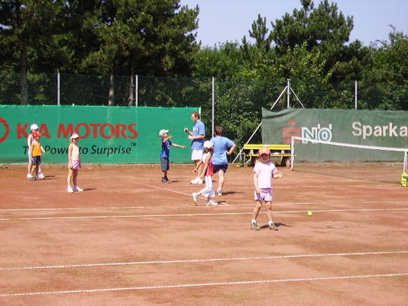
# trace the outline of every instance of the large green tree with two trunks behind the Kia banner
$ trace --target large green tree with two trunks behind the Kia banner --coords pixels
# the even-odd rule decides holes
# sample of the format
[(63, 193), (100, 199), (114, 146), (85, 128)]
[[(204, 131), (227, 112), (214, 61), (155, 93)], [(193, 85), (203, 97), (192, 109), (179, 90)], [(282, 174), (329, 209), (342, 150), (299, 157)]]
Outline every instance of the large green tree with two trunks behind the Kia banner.
[(188, 75), (194, 52), (198, 8), (176, 0), (104, 0), (90, 16), (98, 50), (83, 65), (110, 74), (109, 105), (114, 104), (114, 75), (130, 74), (129, 105), (135, 74)]

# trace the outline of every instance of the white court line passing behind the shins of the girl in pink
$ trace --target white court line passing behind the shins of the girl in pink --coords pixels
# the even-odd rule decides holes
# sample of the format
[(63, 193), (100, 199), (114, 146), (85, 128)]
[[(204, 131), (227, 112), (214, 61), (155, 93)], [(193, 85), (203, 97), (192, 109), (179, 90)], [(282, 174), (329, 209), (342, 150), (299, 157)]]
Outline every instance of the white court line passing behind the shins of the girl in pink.
[[(298, 214), (304, 212), (391, 212), (396, 210), (408, 210), (408, 208), (367, 208), (355, 210), (288, 210), (273, 212), (273, 214)], [(252, 214), (252, 212), (221, 212), (212, 214), (133, 214), (114, 216), (41, 216), (32, 218), (1, 218), (0, 221), (28, 221), (28, 220), (63, 220), (63, 219), (115, 219), (115, 218), (162, 218), (169, 216), (237, 216)], [(265, 212), (260, 212), (265, 214)]]

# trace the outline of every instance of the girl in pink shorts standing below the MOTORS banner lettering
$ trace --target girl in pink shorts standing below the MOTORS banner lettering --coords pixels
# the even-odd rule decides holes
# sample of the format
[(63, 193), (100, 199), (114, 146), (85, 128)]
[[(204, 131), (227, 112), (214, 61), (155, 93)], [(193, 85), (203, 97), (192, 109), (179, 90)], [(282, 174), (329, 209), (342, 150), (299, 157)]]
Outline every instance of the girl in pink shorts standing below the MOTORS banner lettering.
[(83, 189), (78, 187), (77, 178), (80, 169), (80, 148), (78, 146), (79, 135), (74, 133), (69, 139), (68, 147), (68, 177), (67, 177), (67, 192), (83, 192)]

